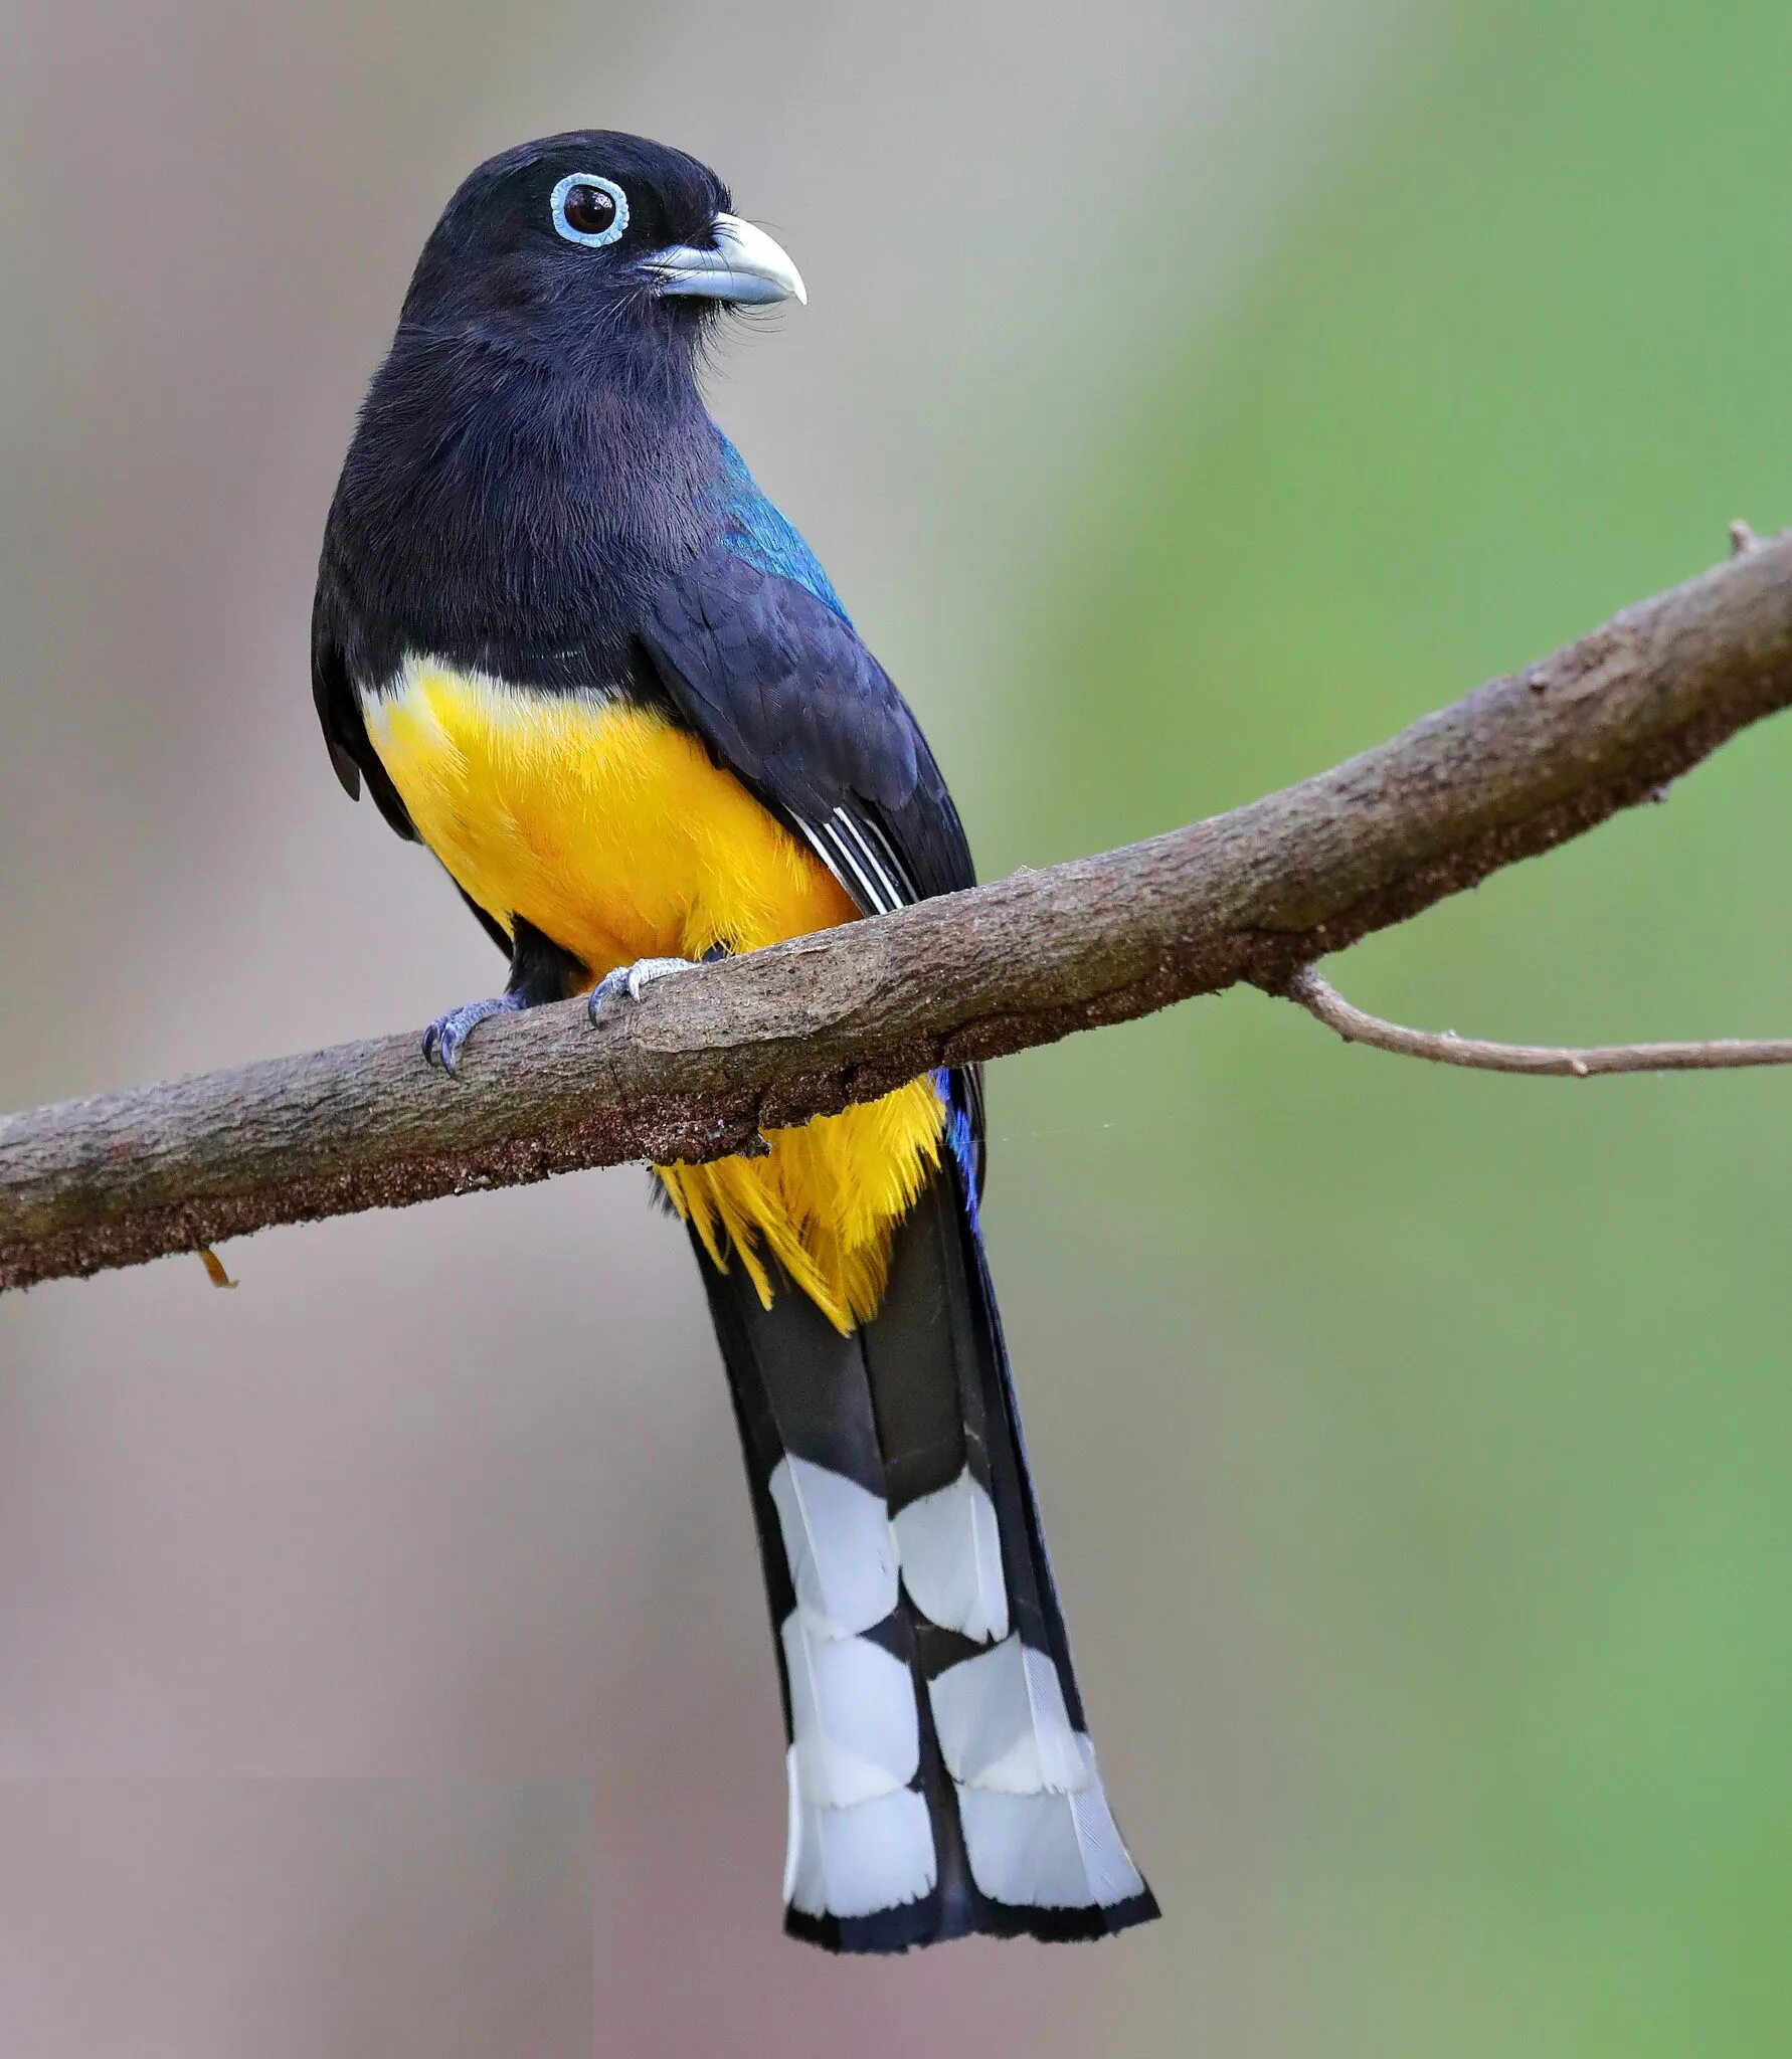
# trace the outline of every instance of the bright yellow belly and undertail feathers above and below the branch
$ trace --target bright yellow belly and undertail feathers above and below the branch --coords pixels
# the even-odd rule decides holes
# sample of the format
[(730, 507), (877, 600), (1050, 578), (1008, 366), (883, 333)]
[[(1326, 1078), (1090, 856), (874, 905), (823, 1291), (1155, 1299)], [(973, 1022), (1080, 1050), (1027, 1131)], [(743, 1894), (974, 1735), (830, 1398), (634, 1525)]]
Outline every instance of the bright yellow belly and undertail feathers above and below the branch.
[[(480, 908), (573, 951), (593, 982), (636, 957), (756, 951), (849, 922), (826, 867), (665, 717), (412, 659), (363, 702), (418, 836)], [(717, 1264), (770, 1305), (772, 1260), (840, 1328), (875, 1314), (890, 1237), (939, 1163), (931, 1081), (772, 1130), (770, 1153), (655, 1167)]]

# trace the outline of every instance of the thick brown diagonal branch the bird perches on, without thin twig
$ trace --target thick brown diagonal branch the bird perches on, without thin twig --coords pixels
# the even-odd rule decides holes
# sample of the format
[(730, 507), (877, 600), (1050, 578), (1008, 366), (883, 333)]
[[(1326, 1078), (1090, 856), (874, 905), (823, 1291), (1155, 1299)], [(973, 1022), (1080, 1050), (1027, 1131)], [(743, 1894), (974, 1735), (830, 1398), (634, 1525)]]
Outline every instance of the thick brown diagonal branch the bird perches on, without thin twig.
[(0, 1287), (622, 1159), (704, 1159), (1240, 980), (1302, 968), (1658, 799), (1792, 702), (1792, 533), (1388, 743), (1211, 822), (480, 1030), (0, 1120)]

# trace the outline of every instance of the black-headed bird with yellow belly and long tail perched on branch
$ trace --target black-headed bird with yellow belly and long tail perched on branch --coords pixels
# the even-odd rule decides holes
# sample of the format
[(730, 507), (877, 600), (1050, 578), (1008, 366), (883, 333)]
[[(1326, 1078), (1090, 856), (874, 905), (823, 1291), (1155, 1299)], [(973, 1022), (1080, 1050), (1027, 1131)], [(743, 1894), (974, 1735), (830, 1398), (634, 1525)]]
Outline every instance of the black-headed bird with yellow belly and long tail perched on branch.
[[(807, 301), (665, 144), (575, 130), (449, 200), (330, 504), (311, 682), (344, 789), (509, 962), (494, 1015), (974, 883), (921, 729), (704, 399), (721, 319)], [(709, 1297), (787, 1736), (785, 1929), (834, 1952), (1158, 1915), (1106, 1800), (945, 1067), (653, 1170)]]

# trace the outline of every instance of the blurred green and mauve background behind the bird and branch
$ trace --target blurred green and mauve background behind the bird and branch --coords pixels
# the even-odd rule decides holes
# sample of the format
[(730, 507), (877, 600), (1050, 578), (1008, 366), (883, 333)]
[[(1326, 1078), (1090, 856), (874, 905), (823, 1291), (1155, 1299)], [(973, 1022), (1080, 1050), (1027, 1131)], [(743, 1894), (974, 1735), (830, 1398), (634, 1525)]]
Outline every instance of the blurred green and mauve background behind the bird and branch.
[[(1380, 739), (1792, 511), (1778, 0), (6, 0), (0, 1104), (424, 1023), (488, 945), (315, 735), (437, 208), (713, 161), (717, 408), (999, 873)], [(1489, 1036), (1784, 1032), (1792, 731), (1364, 945)], [(0, 2049), (1780, 2055), (1784, 1075), (1254, 994), (1001, 1065), (987, 1211), (1166, 1919), (836, 1964), (639, 1174), (0, 1303)]]

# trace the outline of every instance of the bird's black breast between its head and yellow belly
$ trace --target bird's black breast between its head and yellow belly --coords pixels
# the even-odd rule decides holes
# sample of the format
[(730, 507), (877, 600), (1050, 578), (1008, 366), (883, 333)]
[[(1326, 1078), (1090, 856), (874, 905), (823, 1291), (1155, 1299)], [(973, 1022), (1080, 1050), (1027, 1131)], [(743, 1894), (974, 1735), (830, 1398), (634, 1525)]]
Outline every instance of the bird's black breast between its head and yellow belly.
[(717, 535), (721, 437), (678, 338), (564, 358), (404, 325), (330, 509), (319, 607), (360, 688), (426, 653), (628, 688), (659, 585)]

